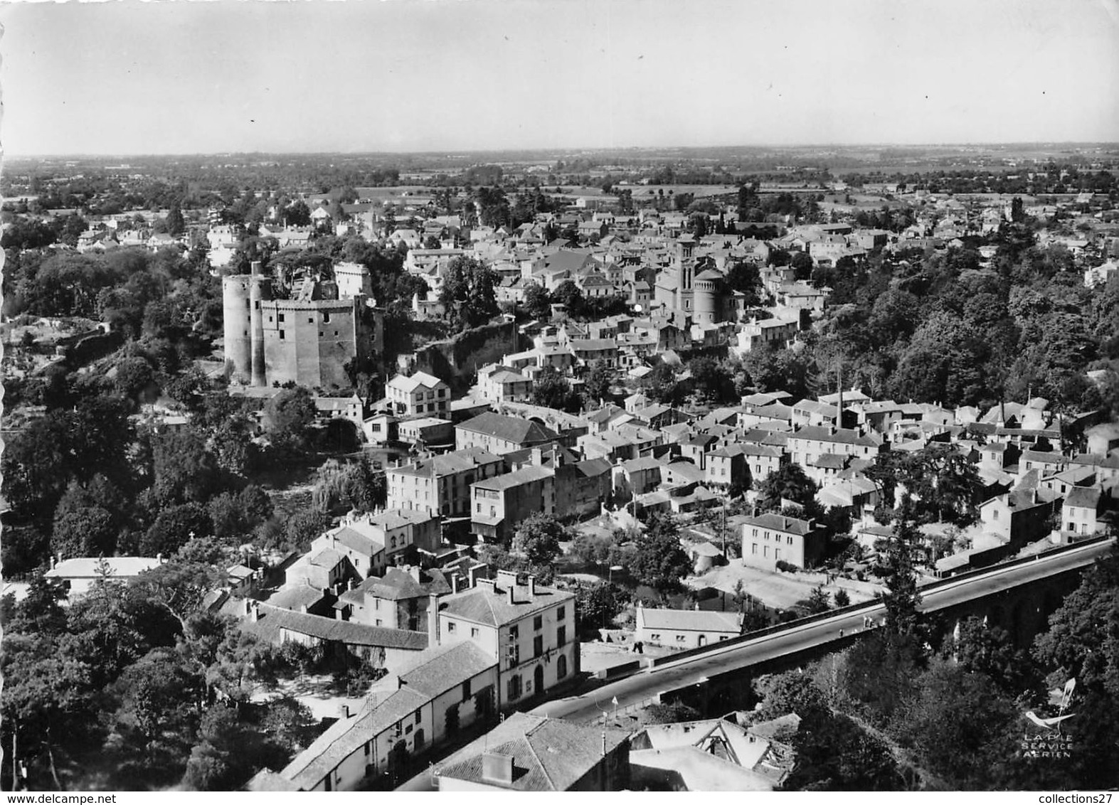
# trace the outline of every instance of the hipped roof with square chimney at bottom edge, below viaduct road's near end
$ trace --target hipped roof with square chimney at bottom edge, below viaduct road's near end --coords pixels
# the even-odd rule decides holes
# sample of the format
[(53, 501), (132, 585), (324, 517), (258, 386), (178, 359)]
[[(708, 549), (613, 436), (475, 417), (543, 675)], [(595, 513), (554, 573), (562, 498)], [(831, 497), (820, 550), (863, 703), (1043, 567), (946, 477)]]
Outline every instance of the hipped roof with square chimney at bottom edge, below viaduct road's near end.
[[(622, 730), (605, 730), (606, 752), (628, 739)], [(567, 790), (602, 761), (602, 745), (603, 731), (599, 727), (518, 712), (452, 755), (435, 774), (510, 790)], [(500, 786), (483, 778), (486, 754), (513, 758), (511, 785)]]

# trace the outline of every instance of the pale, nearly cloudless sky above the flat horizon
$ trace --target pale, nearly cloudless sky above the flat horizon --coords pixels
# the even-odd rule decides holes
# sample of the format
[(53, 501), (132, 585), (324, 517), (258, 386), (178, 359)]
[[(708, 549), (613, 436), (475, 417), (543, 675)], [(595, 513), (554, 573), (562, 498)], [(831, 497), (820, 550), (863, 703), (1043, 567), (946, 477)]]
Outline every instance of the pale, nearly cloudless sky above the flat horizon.
[(12, 157), (1119, 141), (1119, 0), (0, 2)]

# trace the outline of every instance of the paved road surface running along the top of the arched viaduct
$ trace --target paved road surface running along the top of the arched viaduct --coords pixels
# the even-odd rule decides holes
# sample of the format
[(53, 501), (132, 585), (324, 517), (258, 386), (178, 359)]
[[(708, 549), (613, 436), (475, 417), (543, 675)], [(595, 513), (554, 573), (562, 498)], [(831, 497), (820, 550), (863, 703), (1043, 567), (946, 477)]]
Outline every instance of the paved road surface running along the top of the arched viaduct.
[[(921, 609), (935, 612), (991, 593), (1054, 576), (1065, 570), (1087, 567), (1097, 558), (1104, 556), (1110, 549), (1111, 542), (1102, 541), (1054, 556), (1042, 557), (1023, 565), (1006, 568), (995, 567), (981, 576), (961, 579), (923, 591)], [(545, 702), (533, 712), (573, 721), (593, 721), (600, 718), (603, 712), (609, 713), (614, 709), (611, 703), (614, 697), (618, 698), (617, 707), (624, 709), (647, 701), (660, 691), (678, 690), (703, 682), (708, 676), (838, 641), (840, 640), (840, 629), (849, 637), (852, 633), (863, 628), (864, 615), (878, 619), (884, 614), (885, 607), (880, 604), (858, 609), (853, 614), (841, 614), (801, 626), (791, 626), (788, 629), (725, 648), (715, 647), (705, 654), (683, 657), (676, 662), (648, 669), (633, 676), (603, 685), (590, 693)]]

